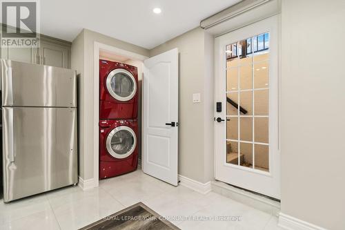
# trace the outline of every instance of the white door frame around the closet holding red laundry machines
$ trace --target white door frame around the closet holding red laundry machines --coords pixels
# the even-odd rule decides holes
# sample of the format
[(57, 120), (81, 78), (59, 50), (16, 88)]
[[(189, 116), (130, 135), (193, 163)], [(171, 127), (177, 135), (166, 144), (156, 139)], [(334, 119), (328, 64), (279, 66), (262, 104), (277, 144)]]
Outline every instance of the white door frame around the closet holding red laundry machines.
[[(94, 41), (94, 82), (93, 82), (93, 99), (94, 99), (94, 108), (93, 108), (93, 142), (94, 142), (94, 156), (93, 156), (93, 180), (94, 186), (99, 186), (99, 52), (105, 51), (113, 55), (120, 55), (122, 57), (128, 57), (128, 59), (142, 61), (142, 67), (144, 70), (144, 60), (148, 59), (144, 55), (139, 55), (136, 52), (131, 52), (115, 46), (109, 46), (107, 44)], [(137, 89), (138, 90), (138, 89)], [(141, 120), (142, 122), (142, 120)], [(142, 123), (141, 123), (142, 124)], [(141, 142), (142, 143), (142, 142)], [(88, 188), (86, 188), (88, 189)]]

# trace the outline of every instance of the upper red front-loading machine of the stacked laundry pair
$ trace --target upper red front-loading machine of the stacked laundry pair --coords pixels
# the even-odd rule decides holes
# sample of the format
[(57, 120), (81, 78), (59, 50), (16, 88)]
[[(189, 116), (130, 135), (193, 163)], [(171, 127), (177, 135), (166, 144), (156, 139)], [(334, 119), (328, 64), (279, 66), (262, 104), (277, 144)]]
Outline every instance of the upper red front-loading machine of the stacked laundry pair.
[(138, 70), (99, 60), (99, 119), (131, 119), (138, 114)]

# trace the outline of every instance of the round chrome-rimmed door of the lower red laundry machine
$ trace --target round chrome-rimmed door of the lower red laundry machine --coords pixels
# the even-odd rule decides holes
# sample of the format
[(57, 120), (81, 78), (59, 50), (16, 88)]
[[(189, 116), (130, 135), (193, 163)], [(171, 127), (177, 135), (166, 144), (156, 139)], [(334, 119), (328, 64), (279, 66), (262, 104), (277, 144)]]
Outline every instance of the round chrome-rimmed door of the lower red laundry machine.
[(128, 157), (137, 146), (137, 137), (132, 128), (128, 126), (118, 126), (114, 128), (107, 137), (106, 148), (108, 153), (117, 159)]

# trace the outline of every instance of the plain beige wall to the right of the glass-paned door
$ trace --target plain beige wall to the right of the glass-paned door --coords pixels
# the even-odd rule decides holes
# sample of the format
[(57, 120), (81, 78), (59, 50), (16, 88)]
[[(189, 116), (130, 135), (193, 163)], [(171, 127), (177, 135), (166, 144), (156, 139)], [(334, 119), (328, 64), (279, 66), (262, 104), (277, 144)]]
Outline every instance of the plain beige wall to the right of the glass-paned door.
[(282, 1), (282, 213), (345, 229), (345, 1)]

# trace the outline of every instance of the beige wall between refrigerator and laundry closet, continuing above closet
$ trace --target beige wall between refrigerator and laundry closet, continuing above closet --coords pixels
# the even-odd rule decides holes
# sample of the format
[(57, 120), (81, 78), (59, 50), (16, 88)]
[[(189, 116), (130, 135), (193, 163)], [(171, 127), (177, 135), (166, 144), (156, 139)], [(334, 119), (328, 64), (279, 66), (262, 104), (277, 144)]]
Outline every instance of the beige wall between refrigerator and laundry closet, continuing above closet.
[[(101, 35), (84, 29), (72, 42), (72, 50), (79, 50), (83, 44), (83, 52), (72, 52), (72, 69), (76, 69), (79, 77), (79, 175), (83, 180), (93, 178), (94, 165), (94, 43), (95, 41), (123, 50), (148, 56), (145, 48)], [(75, 60), (75, 61), (73, 61)], [(82, 61), (81, 61), (82, 60)], [(83, 62), (83, 65), (81, 65)]]

